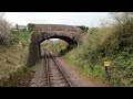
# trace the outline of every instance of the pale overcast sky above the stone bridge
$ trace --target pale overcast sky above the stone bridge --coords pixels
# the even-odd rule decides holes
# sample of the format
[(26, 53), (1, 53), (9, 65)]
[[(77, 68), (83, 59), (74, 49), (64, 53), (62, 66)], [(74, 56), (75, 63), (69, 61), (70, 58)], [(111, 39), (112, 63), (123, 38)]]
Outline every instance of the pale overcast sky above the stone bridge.
[(108, 12), (6, 12), (4, 18), (14, 24), (28, 23), (98, 26)]

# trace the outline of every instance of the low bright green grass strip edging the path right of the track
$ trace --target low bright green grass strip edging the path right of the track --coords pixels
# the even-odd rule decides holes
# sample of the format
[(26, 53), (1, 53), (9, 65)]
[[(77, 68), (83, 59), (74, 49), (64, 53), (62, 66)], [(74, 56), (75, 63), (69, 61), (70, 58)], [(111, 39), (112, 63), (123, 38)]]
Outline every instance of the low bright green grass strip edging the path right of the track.
[(74, 54), (78, 54), (78, 48), (69, 52), (66, 55), (64, 55), (62, 58), (68, 64), (68, 66), (73, 67), (76, 69), (80, 74), (82, 74), (85, 78), (89, 78), (92, 82), (99, 86), (112, 86), (109, 84), (109, 79), (106, 78), (106, 74), (104, 72), (104, 66), (95, 65), (92, 69), (90, 67), (91, 64), (82, 61), (82, 59), (75, 59), (76, 56)]

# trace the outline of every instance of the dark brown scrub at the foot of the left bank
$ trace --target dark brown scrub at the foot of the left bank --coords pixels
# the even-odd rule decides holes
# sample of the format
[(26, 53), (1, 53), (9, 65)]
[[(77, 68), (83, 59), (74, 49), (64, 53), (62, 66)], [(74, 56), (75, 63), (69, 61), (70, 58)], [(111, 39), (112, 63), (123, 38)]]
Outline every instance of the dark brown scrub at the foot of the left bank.
[(0, 79), (1, 87), (30, 87), (30, 81), (33, 77), (37, 66), (28, 68), (19, 67), (16, 72), (9, 74), (9, 77)]

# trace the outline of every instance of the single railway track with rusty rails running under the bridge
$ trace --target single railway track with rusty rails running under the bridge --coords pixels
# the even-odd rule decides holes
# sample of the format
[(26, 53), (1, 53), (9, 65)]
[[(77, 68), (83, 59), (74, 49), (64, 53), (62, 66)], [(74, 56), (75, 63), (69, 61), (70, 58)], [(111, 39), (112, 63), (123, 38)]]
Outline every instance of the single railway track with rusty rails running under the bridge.
[(44, 51), (47, 87), (72, 87), (65, 73), (62, 70), (55, 57), (48, 51)]

